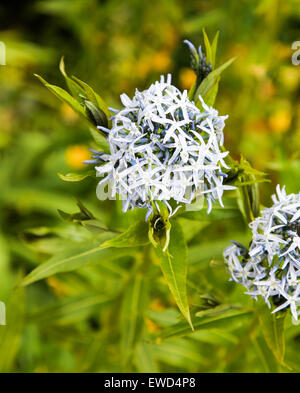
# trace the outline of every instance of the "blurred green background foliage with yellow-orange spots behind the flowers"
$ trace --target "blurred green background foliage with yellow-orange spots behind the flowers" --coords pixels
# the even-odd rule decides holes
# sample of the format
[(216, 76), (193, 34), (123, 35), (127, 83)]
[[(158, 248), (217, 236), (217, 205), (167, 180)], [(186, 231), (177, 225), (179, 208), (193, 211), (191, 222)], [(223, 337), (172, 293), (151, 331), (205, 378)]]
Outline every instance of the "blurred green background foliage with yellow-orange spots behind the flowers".
[[(121, 371), (114, 297), (126, 260), (15, 288), (53, 252), (87, 236), (57, 213), (75, 211), (74, 197), (112, 227), (125, 228), (130, 220), (115, 202), (97, 201), (94, 180), (64, 183), (57, 176), (83, 168), (92, 138), (33, 74), (64, 85), (58, 70), (64, 56), (70, 74), (118, 108), (122, 92), (130, 96), (161, 74), (171, 72), (173, 83), (188, 89), (194, 75), (183, 40), (203, 45), (203, 27), (211, 39), (219, 30), (217, 64), (237, 56), (222, 75), (215, 103), (229, 114), (226, 147), (269, 174), (271, 183), (260, 185), (262, 203), (269, 205), (277, 183), (299, 192), (300, 66), (291, 62), (292, 42), (300, 40), (299, 1), (11, 0), (0, 4), (0, 26), (6, 45), (6, 65), (0, 66), (0, 300), (8, 322), (0, 326), (0, 371)], [(221, 300), (246, 298), (220, 262), (210, 262), (221, 259), (229, 239), (247, 237), (242, 220), (204, 224), (190, 222), (186, 234), (190, 288)], [(162, 279), (151, 291), (147, 339), (138, 344), (129, 371), (265, 371), (260, 338), (247, 321), (150, 343), (178, 318)], [(299, 370), (300, 327), (290, 325), (286, 336), (289, 364)]]

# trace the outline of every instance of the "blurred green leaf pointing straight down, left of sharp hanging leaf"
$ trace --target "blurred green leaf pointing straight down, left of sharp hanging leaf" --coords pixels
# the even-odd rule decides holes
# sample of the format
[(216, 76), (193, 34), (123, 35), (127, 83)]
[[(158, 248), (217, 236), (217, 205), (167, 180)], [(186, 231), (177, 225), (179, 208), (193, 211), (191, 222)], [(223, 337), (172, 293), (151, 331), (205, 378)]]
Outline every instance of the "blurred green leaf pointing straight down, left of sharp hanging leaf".
[(129, 282), (121, 309), (121, 354), (124, 370), (127, 369), (142, 338), (144, 313), (148, 303), (148, 283), (140, 274)]

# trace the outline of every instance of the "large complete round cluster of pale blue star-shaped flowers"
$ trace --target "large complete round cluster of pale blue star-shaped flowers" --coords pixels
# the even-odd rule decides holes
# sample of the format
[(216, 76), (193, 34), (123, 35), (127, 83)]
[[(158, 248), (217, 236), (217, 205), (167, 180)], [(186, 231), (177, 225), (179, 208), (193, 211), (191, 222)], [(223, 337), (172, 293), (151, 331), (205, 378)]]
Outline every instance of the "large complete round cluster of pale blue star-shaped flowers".
[(124, 212), (147, 208), (146, 219), (158, 208), (157, 201), (166, 204), (170, 215), (200, 196), (207, 200), (208, 213), (216, 200), (223, 206), (223, 191), (235, 188), (224, 184), (224, 171), (230, 169), (224, 161), (228, 152), (221, 149), (227, 116), (219, 116), (201, 96), (199, 100), (202, 110), (186, 90), (171, 84), (171, 75), (143, 92), (136, 90), (132, 99), (122, 94), (123, 109), (111, 109), (111, 129), (98, 127), (107, 134), (110, 154), (94, 151), (89, 161), (97, 176), (104, 176), (97, 193), (110, 184), (111, 196), (121, 196)]

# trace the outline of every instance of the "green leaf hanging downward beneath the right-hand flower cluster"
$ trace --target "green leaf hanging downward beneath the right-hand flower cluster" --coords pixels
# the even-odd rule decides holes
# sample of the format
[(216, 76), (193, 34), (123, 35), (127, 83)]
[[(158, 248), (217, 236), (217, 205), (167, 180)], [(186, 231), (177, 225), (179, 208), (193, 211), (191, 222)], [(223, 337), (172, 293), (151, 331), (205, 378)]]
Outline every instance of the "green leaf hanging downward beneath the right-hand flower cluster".
[(266, 343), (277, 361), (284, 364), (285, 339), (284, 339), (284, 322), (286, 312), (272, 314), (268, 307), (263, 304), (258, 308), (258, 318), (262, 333)]

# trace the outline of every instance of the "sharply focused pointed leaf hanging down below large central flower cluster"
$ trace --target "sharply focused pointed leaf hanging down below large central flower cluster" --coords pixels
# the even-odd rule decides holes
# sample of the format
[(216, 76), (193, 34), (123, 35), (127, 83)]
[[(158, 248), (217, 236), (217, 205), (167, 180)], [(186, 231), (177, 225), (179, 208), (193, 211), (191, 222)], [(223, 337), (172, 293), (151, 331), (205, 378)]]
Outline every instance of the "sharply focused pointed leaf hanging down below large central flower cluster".
[(172, 224), (167, 250), (163, 251), (160, 247), (156, 250), (159, 256), (161, 270), (176, 304), (193, 329), (186, 285), (188, 268), (187, 245), (178, 222), (174, 221)]

